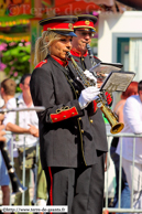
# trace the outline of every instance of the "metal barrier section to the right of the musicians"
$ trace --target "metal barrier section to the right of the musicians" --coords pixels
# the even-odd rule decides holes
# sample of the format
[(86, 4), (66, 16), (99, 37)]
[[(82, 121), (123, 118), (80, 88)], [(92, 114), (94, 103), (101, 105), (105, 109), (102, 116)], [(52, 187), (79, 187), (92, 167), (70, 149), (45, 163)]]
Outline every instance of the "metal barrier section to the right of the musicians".
[[(103, 207), (103, 213), (142, 213), (142, 210), (135, 210), (133, 208), (133, 191), (131, 192), (131, 207), (130, 208), (121, 208), (121, 178), (122, 178), (122, 137), (129, 137), (133, 138), (133, 157), (132, 157), (132, 190), (133, 190), (133, 174), (134, 174), (134, 157), (135, 157), (135, 138), (142, 138), (142, 135), (134, 135), (134, 133), (117, 133), (117, 135), (111, 135), (110, 132), (107, 132), (108, 137), (108, 156), (110, 157), (110, 143), (112, 140), (112, 137), (119, 137), (120, 138), (120, 161), (119, 161), (119, 193), (118, 193), (118, 207), (109, 207), (108, 205), (108, 200), (109, 200), (109, 186), (108, 186), (108, 181), (109, 181), (109, 170), (110, 167), (108, 168), (106, 172), (106, 184), (105, 184), (105, 207)], [(111, 159), (111, 158), (109, 158)], [(108, 161), (108, 159), (107, 159)], [(110, 160), (111, 164), (111, 160)], [(113, 163), (112, 163), (113, 164)], [(109, 165), (107, 163), (107, 165)]]

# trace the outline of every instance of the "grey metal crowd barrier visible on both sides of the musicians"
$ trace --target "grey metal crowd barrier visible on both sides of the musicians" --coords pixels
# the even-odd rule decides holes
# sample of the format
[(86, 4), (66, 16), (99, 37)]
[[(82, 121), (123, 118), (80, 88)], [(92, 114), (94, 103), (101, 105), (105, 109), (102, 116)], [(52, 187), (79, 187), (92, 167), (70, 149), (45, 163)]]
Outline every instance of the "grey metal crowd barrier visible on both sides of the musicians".
[[(8, 135), (12, 136), (12, 132), (7, 131)], [(110, 143), (112, 140), (112, 137), (120, 137), (120, 165), (119, 165), (119, 194), (118, 194), (118, 207), (109, 207), (108, 205), (108, 200), (109, 197), (112, 197), (112, 194), (109, 196), (109, 185), (108, 185), (108, 181), (109, 181), (109, 170), (110, 167), (108, 168), (107, 172), (106, 172), (106, 185), (105, 185), (105, 207), (103, 207), (103, 213), (142, 213), (142, 210), (134, 210), (133, 208), (133, 191), (131, 193), (131, 207), (130, 208), (121, 208), (121, 176), (122, 176), (122, 137), (129, 137), (129, 138), (133, 138), (133, 161), (132, 161), (132, 169), (134, 171), (134, 156), (135, 156), (135, 138), (142, 138), (142, 135), (134, 135), (134, 133), (117, 133), (117, 135), (111, 135), (110, 132), (107, 132), (107, 138), (108, 138), (108, 156), (110, 157)], [(13, 148), (13, 138), (11, 140), (11, 148)], [(25, 148), (25, 146), (24, 146)], [(37, 151), (39, 151), (39, 143), (36, 143), (36, 157), (37, 157)], [(23, 165), (25, 163), (25, 153), (23, 152)], [(11, 161), (12, 161), (12, 165), (14, 165), (13, 162), (13, 151), (11, 149)], [(110, 161), (110, 165), (113, 167), (113, 163), (111, 161), (111, 158), (107, 159), (107, 161)], [(132, 173), (133, 176), (133, 173)], [(31, 182), (32, 183), (32, 182)], [(25, 186), (25, 168), (23, 168), (23, 186)], [(33, 185), (33, 183), (32, 183)], [(34, 186), (36, 188), (36, 185)], [(114, 188), (114, 186), (113, 186)], [(133, 190), (133, 179), (132, 179), (132, 190)], [(34, 190), (34, 192), (36, 192)], [(110, 190), (111, 192), (111, 190)], [(22, 205), (24, 204), (24, 192), (22, 193)], [(11, 200), (10, 200), (10, 205), (11, 205)]]

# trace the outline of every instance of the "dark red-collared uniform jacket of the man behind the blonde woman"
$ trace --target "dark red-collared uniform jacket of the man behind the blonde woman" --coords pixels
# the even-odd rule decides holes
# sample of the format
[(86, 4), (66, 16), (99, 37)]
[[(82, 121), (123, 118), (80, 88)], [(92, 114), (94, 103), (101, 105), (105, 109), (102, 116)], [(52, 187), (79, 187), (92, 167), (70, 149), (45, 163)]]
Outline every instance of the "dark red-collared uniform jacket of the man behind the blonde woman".
[[(85, 71), (92, 67), (89, 55), (86, 53), (84, 56), (76, 50), (70, 51), (72, 55), (76, 60), (77, 64)], [(95, 57), (95, 62), (99, 63), (100, 60)], [(70, 64), (70, 63), (69, 63)], [(106, 126), (102, 118), (102, 111), (97, 109), (96, 114), (90, 117), (92, 133), (95, 138), (95, 147), (100, 151), (108, 151)]]

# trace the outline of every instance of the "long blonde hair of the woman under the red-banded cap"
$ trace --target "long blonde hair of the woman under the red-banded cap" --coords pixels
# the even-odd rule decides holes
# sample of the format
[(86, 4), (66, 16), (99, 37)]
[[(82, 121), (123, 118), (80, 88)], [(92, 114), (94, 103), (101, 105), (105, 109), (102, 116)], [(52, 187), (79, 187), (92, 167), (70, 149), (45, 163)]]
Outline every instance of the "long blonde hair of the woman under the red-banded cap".
[(35, 55), (34, 55), (34, 64), (39, 64), (41, 61), (45, 60), (47, 54), (50, 54), (51, 44), (59, 40), (62, 38), (61, 34), (55, 33), (53, 31), (44, 31), (42, 36), (39, 38), (35, 42)]

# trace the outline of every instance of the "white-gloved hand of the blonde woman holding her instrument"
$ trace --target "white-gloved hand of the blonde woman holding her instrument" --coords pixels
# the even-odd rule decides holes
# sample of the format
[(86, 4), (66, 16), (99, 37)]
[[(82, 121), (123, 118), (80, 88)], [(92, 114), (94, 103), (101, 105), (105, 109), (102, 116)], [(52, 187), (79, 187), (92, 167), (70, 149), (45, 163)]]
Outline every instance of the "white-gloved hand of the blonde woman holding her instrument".
[(86, 89), (81, 90), (80, 96), (78, 98), (79, 106), (81, 109), (88, 106), (88, 104), (97, 98), (97, 95), (99, 95), (99, 88), (90, 86)]

